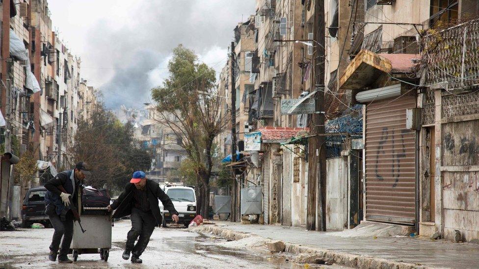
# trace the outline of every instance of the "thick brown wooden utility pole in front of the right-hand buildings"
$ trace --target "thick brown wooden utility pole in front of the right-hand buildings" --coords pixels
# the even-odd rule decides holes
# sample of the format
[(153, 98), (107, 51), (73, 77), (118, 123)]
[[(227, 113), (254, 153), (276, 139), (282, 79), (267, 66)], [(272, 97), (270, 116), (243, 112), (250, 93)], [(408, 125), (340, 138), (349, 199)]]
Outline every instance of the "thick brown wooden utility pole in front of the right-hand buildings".
[[(311, 115), (310, 130), (312, 136), (308, 139), (308, 208), (306, 228), (308, 230), (326, 230), (326, 152), (324, 146), (324, 0), (315, 0), (313, 24), (313, 81), (316, 101), (316, 112)], [(316, 135), (316, 136), (315, 136)], [(316, 208), (318, 222), (316, 223)]]

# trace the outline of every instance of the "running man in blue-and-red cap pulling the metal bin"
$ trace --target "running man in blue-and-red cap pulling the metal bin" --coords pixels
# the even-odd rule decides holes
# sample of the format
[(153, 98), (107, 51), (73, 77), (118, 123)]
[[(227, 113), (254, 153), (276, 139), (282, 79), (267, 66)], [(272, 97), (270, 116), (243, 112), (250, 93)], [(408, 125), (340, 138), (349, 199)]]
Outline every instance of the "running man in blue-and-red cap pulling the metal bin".
[[(127, 235), (123, 259), (128, 260), (133, 251), (132, 263), (142, 262), (139, 257), (145, 251), (155, 226), (157, 224), (160, 226), (162, 222), (158, 199), (170, 212), (171, 218), (178, 222), (178, 212), (170, 197), (161, 190), (158, 183), (147, 179), (145, 172), (136, 171), (133, 173), (130, 183), (125, 186), (123, 193), (108, 206), (108, 211), (116, 210), (112, 218), (130, 215), (130, 220), (132, 220), (132, 229)], [(138, 237), (138, 242), (134, 245)]]

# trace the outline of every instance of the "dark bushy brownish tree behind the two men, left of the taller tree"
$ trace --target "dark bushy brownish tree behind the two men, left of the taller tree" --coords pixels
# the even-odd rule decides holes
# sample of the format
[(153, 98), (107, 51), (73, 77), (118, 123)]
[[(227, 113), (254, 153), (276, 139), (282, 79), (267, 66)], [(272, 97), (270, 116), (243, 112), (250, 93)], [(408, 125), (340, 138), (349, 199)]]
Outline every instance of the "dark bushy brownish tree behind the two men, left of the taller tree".
[(151, 152), (140, 147), (133, 132), (130, 122), (122, 124), (99, 104), (90, 119), (78, 122), (73, 147), (68, 152), (70, 166), (87, 162), (92, 175), (85, 179), (85, 184), (119, 193), (130, 181), (133, 171), (148, 170), (152, 161)]

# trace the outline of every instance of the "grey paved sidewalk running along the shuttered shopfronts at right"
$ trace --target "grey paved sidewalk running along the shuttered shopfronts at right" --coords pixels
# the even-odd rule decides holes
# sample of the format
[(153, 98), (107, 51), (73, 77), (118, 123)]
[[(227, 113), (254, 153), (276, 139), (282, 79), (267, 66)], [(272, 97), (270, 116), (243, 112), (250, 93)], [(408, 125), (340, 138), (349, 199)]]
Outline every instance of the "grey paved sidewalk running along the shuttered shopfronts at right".
[[(234, 237), (229, 239), (232, 240), (247, 236), (260, 236), (296, 245), (295, 248), (287, 246), (286, 251), (298, 249), (297, 245), (301, 245), (309, 246), (309, 250), (305, 250), (307, 252), (311, 252), (311, 247), (314, 247), (327, 256), (335, 255), (335, 253), (341, 254), (344, 256), (342, 259), (345, 259), (347, 255), (353, 255), (352, 257), (355, 257), (354, 255), (369, 256), (372, 258), (371, 260), (377, 260), (375, 261), (376, 265), (380, 265), (381, 262), (384, 262), (382, 259), (385, 259), (389, 262), (389, 266), (394, 264), (391, 262), (397, 262), (435, 268), (479, 268), (479, 245), (477, 244), (407, 237), (345, 238), (334, 236), (332, 232), (306, 231), (304, 228), (297, 227), (241, 225), (237, 222), (221, 221), (215, 223), (216, 225), (201, 225), (197, 229), (205, 232), (213, 232), (214, 229), (214, 234), (223, 237), (226, 234), (225, 230), (231, 231)], [(328, 252), (330, 254), (326, 254)], [(355, 258), (359, 259), (360, 257), (356, 256)], [(402, 266), (393, 266), (393, 268)]]

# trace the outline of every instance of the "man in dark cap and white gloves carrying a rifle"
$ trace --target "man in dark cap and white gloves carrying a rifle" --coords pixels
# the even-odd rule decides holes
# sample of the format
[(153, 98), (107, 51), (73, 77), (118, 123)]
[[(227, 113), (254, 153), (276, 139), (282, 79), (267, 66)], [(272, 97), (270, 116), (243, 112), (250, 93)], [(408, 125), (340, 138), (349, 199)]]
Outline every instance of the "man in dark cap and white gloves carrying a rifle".
[[(52, 244), (50, 245), (49, 260), (56, 261), (60, 240), (63, 237), (60, 253), (58, 255), (59, 263), (72, 263), (67, 254), (73, 239), (73, 213), (72, 210), (65, 210), (70, 206), (69, 197), (73, 197), (75, 207), (79, 195), (79, 189), (82, 180), (86, 175), (91, 175), (88, 165), (85, 162), (79, 162), (73, 170), (58, 173), (54, 178), (45, 183), (47, 193), (45, 194), (45, 214), (50, 218), (54, 232)], [(60, 191), (59, 187), (65, 192)], [(81, 195), (81, 192), (80, 192)]]

